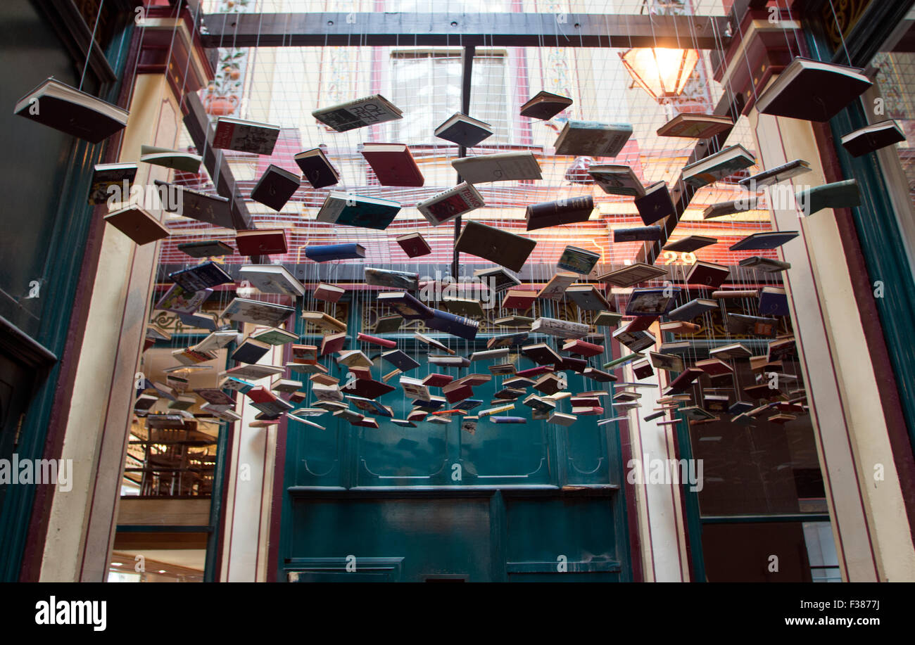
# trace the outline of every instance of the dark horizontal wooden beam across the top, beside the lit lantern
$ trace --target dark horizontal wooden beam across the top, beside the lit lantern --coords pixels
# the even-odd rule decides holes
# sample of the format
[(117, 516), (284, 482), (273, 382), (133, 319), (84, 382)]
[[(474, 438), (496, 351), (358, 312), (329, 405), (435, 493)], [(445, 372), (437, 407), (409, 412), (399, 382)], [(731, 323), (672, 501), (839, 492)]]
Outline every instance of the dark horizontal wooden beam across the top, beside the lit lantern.
[[(727, 47), (726, 16), (208, 14), (204, 47)], [(724, 42), (722, 42), (724, 40)]]

